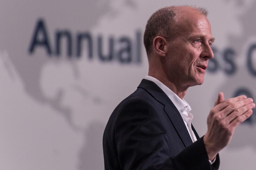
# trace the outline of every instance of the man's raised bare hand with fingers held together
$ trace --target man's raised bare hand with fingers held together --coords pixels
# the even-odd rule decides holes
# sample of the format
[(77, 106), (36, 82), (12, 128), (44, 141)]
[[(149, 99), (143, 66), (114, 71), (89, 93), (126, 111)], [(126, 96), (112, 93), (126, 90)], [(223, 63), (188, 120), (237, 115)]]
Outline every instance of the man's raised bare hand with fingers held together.
[(245, 95), (224, 100), (224, 94), (219, 93), (207, 117), (208, 130), (204, 136), (209, 160), (213, 160), (229, 144), (236, 127), (252, 115), (254, 107), (252, 98)]

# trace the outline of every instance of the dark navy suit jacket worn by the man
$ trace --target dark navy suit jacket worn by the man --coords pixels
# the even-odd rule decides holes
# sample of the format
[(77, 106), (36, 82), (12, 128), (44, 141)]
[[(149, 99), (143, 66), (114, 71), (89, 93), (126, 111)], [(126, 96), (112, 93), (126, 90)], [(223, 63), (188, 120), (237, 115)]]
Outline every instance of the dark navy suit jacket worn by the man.
[(209, 163), (203, 137), (192, 142), (169, 97), (143, 79), (113, 111), (103, 135), (105, 170), (218, 169)]

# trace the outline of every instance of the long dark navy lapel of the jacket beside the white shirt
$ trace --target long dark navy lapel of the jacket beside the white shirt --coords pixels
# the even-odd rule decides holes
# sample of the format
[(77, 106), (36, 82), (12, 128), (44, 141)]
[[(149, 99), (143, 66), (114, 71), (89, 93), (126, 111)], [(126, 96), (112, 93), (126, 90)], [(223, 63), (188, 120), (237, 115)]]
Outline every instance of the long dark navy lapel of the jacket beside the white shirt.
[[(169, 97), (158, 87), (154, 82), (143, 79), (138, 86), (148, 91), (157, 101), (164, 105), (164, 111), (168, 115), (174, 128), (176, 129), (181, 141), (185, 147), (192, 144), (192, 140), (189, 136), (188, 129), (186, 128), (183, 119), (178, 109), (174, 106)], [(198, 136), (198, 135), (197, 135)]]

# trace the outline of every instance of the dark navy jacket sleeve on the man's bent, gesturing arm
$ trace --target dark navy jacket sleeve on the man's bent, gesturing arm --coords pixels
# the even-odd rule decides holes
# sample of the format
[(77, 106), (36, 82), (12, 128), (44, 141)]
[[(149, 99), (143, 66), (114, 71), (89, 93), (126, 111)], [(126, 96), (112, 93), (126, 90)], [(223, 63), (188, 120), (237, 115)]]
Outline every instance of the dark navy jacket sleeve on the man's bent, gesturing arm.
[(118, 111), (115, 142), (124, 170), (218, 169), (209, 163), (203, 137), (176, 157), (169, 157), (168, 138), (156, 109), (145, 100), (126, 102)]

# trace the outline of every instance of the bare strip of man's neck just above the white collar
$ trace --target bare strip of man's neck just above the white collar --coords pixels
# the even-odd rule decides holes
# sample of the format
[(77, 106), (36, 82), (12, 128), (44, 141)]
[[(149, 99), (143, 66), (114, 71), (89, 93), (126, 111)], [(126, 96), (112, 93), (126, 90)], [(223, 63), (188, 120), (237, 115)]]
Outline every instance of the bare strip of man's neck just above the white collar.
[(177, 96), (179, 96), (180, 99), (183, 99), (187, 93), (188, 87), (182, 85), (179, 82), (173, 82), (172, 80), (165, 78), (164, 76), (162, 76), (162, 74), (159, 74), (158, 72), (153, 72), (149, 70), (148, 76), (154, 77), (160, 82), (162, 82), (169, 89), (171, 89), (172, 92), (174, 92)]

